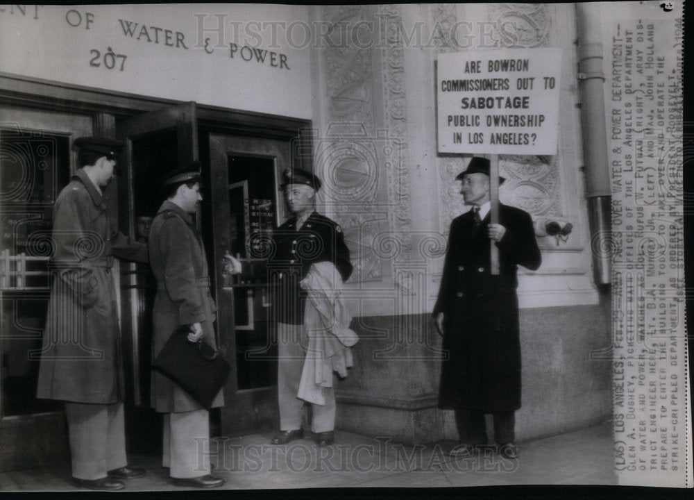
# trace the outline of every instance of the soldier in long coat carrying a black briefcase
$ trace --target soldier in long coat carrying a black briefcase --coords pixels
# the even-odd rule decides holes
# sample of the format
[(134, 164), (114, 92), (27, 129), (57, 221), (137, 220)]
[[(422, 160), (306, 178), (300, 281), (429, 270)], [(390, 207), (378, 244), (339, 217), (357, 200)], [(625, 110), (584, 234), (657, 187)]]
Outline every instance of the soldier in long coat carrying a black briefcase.
[[(188, 340), (203, 339), (217, 347), (214, 326), (217, 306), (210, 295), (210, 277), (203, 240), (193, 217), (201, 201), (200, 167), (194, 163), (183, 172), (164, 179), (167, 199), (149, 230), (149, 256), (157, 278), (153, 310), (153, 358), (180, 327), (189, 327)], [(205, 410), (170, 378), (153, 372), (152, 406), (164, 413), (162, 465), (176, 485), (217, 487), (222, 478), (210, 475), (199, 462), (198, 444), (210, 439), (208, 410)], [(212, 403), (223, 406), (221, 390)], [(203, 474), (201, 474), (203, 472)]]

